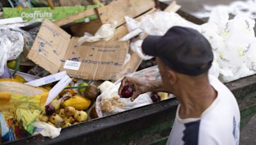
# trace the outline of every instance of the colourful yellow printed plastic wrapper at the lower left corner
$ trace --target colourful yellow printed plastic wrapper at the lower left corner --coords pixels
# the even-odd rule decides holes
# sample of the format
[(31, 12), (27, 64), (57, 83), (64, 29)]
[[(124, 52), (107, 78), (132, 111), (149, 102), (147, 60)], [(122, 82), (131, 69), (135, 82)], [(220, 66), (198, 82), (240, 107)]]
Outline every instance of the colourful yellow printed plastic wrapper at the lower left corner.
[(12, 79), (0, 80), (0, 123), (3, 141), (16, 141), (32, 135), (31, 125), (44, 107), (47, 93)]

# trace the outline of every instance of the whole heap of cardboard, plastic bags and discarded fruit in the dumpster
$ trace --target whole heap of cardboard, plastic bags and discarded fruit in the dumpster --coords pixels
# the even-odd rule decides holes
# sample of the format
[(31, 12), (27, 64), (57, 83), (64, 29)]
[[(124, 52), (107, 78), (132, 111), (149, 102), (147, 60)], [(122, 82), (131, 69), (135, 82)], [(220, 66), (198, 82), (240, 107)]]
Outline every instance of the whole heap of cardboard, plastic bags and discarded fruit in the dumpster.
[[(36, 134), (53, 139), (61, 128), (172, 98), (147, 92), (131, 102), (131, 88), (122, 97), (117, 92), (124, 76), (161, 79), (141, 44), (175, 25), (204, 34), (215, 55), (210, 73), (224, 82), (256, 71), (255, 22), (248, 18), (228, 20), (215, 11), (208, 23), (196, 25), (175, 13), (175, 1), (163, 11), (154, 0), (18, 2), (3, 8), (0, 20), (2, 142)], [(26, 8), (45, 5), (51, 8)]]

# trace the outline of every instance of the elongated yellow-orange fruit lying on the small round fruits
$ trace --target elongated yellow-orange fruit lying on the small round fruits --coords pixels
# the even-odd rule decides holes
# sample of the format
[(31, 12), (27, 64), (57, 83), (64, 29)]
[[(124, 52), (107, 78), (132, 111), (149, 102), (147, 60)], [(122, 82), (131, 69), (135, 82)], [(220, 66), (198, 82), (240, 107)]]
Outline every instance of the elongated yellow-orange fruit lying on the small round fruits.
[(77, 96), (77, 95), (74, 96), (74, 97), (71, 97), (70, 99), (65, 100), (63, 102), (64, 107), (71, 106), (71, 107), (74, 107), (77, 110), (86, 110), (86, 109), (88, 109), (88, 107), (90, 105), (91, 105), (91, 100), (90, 99), (87, 99), (87, 98), (84, 98), (84, 97), (81, 97), (81, 96)]

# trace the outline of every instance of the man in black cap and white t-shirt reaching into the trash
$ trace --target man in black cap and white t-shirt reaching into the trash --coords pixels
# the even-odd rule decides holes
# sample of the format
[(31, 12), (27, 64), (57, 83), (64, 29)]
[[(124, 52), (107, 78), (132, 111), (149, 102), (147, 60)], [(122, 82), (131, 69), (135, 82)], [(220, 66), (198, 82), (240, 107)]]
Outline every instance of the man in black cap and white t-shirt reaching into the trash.
[(142, 50), (156, 57), (162, 81), (125, 77), (119, 94), (131, 86), (131, 101), (149, 91), (176, 96), (179, 106), (167, 144), (239, 144), (239, 107), (230, 90), (208, 75), (213, 54), (202, 34), (172, 27), (164, 36), (148, 36)]

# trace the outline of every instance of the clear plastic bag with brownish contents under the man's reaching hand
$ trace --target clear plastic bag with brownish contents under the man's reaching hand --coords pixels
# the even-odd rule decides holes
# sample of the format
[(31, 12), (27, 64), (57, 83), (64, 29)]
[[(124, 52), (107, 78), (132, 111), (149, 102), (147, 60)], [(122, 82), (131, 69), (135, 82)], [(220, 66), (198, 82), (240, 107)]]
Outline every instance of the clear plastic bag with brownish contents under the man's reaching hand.
[[(157, 66), (148, 67), (138, 72), (128, 74), (133, 78), (140, 78), (141, 80), (154, 81), (161, 80), (159, 69)], [(139, 95), (133, 102), (130, 98), (120, 98), (118, 95), (118, 88), (121, 85), (122, 79), (119, 79), (114, 85), (109, 85), (108, 89), (102, 92), (95, 102), (95, 109), (99, 117), (108, 116), (110, 114), (120, 113), (129, 109), (134, 109), (140, 106), (152, 104), (150, 99), (150, 92)]]

